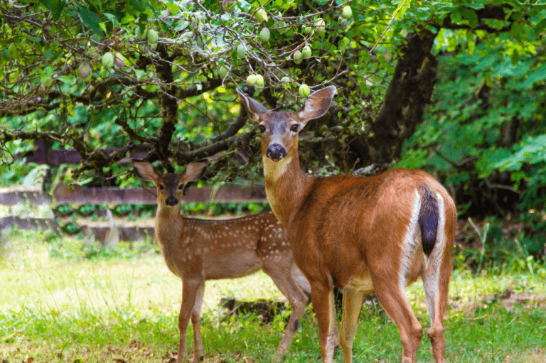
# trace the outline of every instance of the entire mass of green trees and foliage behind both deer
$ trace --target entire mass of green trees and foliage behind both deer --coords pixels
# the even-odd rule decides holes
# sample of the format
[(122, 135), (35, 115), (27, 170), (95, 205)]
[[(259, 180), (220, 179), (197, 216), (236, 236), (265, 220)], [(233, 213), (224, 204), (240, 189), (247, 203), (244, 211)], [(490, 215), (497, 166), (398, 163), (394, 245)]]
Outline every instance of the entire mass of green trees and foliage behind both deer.
[[(346, 5), (348, 18), (341, 16)], [(223, 152), (210, 183), (261, 183), (259, 137), (235, 97), (235, 87), (256, 72), (265, 87), (255, 98), (270, 108), (299, 107), (303, 83), (338, 87), (327, 116), (301, 136), (306, 169), (367, 175), (422, 168), (455, 196), (461, 217), (518, 220), (521, 244), (543, 254), (543, 1), (277, 0), (264, 2), (267, 21), (255, 16), (260, 6), (2, 1), (0, 183), (31, 185), (46, 172), (18, 158), (32, 139), (77, 148), (85, 162), (72, 173), (55, 167), (53, 178), (84, 185), (136, 185), (117, 163), (128, 151), (145, 151), (166, 167), (170, 158), (176, 168)], [(264, 27), (267, 41), (259, 37)], [(159, 42), (139, 40), (137, 28), (154, 28)], [(304, 45), (312, 56), (296, 64), (293, 54)], [(122, 53), (124, 65), (105, 69), (108, 51)], [(77, 76), (84, 61), (88, 80)], [(113, 146), (122, 152), (100, 151)], [(248, 162), (233, 158), (237, 153)], [(492, 232), (498, 242), (503, 227)]]

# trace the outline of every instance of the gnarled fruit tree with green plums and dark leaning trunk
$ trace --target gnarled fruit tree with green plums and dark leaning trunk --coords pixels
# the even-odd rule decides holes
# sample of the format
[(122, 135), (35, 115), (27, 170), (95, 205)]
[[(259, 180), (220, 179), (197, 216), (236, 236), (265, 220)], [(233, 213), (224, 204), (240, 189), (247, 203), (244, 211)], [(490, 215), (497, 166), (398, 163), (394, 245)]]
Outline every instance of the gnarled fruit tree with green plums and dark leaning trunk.
[[(437, 54), (483, 58), (501, 42), (503, 57), (520, 65), (540, 50), (545, 26), (544, 6), (500, 0), (4, 4), (0, 157), (11, 162), (11, 141), (54, 141), (80, 153), (80, 180), (120, 172), (128, 151), (167, 168), (223, 152), (210, 175), (258, 178), (258, 162), (232, 158), (259, 156), (255, 125), (235, 103), (234, 87), (253, 79), (249, 92), (270, 108), (299, 107), (304, 84), (338, 87), (331, 112), (301, 135), (306, 168), (368, 173), (366, 166), (382, 170), (415, 153), (426, 168), (430, 154), (415, 149), (418, 136), (402, 150), (416, 129), (430, 127), (419, 125), (437, 85)], [(494, 77), (484, 80), (494, 88)], [(542, 84), (535, 77), (532, 87)], [(444, 155), (438, 139), (425, 146)]]

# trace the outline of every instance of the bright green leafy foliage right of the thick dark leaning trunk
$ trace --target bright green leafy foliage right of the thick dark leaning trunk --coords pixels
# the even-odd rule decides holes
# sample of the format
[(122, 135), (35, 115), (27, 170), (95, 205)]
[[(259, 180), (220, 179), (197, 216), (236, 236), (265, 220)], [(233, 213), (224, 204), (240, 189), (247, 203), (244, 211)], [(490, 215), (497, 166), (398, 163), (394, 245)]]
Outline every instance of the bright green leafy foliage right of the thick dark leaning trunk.
[(433, 104), (397, 163), (439, 175), (464, 215), (521, 212), (532, 253), (546, 241), (545, 9), (518, 13), (510, 27), (488, 22), (496, 31), (439, 31)]

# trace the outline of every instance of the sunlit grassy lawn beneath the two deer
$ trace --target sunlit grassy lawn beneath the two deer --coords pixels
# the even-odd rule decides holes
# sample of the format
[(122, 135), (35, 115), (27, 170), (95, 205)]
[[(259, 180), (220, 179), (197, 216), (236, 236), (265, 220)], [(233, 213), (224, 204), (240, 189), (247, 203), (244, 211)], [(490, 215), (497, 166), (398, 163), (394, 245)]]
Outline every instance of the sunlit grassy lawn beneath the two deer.
[[(46, 241), (46, 240), (49, 240)], [(0, 242), (0, 362), (172, 362), (176, 357), (181, 282), (154, 246), (120, 244), (99, 251), (76, 239), (36, 232), (4, 233)], [(546, 269), (523, 273), (453, 273), (446, 313), (448, 362), (546, 362)], [(203, 308), (205, 362), (270, 362), (284, 317), (226, 318), (221, 297), (281, 298), (264, 273), (208, 281)], [(429, 326), (418, 282), (408, 296)], [(286, 315), (286, 314), (285, 314)], [(188, 340), (191, 345), (191, 328)], [(399, 362), (402, 345), (382, 309), (365, 304), (353, 349), (355, 362)], [(287, 362), (318, 361), (311, 308)], [(342, 362), (341, 354), (336, 362)], [(432, 362), (426, 337), (418, 362)]]

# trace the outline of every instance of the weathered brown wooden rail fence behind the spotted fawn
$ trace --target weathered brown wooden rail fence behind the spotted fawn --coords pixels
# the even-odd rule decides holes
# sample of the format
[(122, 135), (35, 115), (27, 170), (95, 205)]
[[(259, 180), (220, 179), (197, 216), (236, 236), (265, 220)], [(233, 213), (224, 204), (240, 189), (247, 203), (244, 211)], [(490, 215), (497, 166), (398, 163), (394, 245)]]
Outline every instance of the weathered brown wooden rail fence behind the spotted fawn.
[[(80, 154), (71, 149), (51, 150), (50, 141), (34, 141), (34, 151), (25, 155), (27, 162), (59, 165), (62, 163), (80, 163)], [(117, 148), (105, 149), (107, 152), (117, 151)], [(130, 163), (132, 158), (144, 158), (145, 153), (132, 153), (119, 163)], [(232, 187), (220, 188), (188, 188), (181, 202), (213, 202), (213, 203), (242, 203), (267, 202), (263, 187)], [(60, 183), (53, 189), (52, 195), (41, 191), (13, 191), (0, 193), (0, 205), (135, 205), (156, 204), (155, 189), (121, 189), (115, 187), (81, 188), (79, 186)], [(60, 226), (55, 217), (22, 218), (8, 216), (0, 218), (0, 228), (18, 227), (20, 229), (53, 229), (59, 233)], [(97, 225), (80, 226), (87, 229), (95, 238), (102, 242), (107, 238), (110, 227)], [(151, 237), (154, 228), (139, 226), (118, 226), (119, 239), (137, 240)]]

